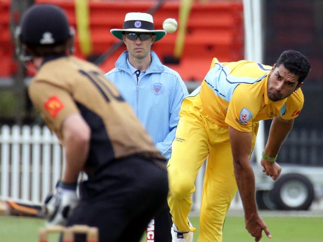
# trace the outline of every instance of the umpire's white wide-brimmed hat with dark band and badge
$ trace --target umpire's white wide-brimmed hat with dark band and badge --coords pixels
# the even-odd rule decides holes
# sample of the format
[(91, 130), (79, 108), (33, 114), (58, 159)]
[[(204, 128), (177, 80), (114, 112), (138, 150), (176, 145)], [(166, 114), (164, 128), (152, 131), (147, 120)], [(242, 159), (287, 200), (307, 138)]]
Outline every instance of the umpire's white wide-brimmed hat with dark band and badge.
[(156, 35), (155, 42), (166, 35), (165, 30), (154, 29), (154, 20), (152, 15), (145, 12), (128, 12), (124, 17), (123, 29), (113, 28), (110, 29), (110, 32), (120, 40), (122, 40), (123, 32), (153, 33)]

